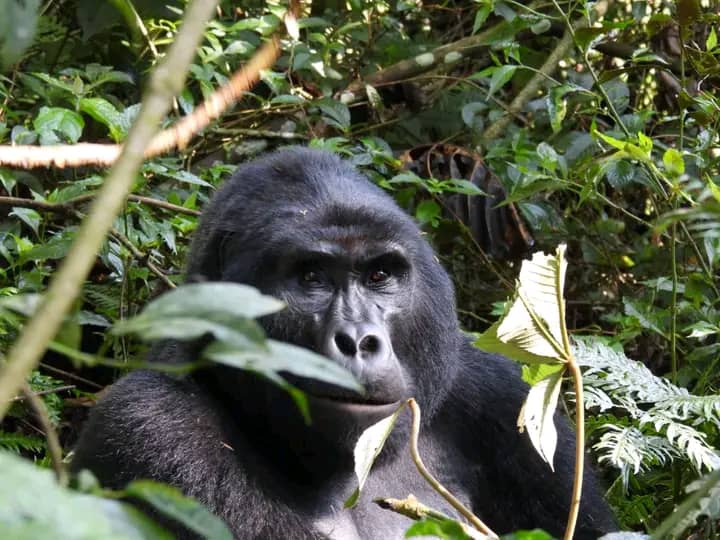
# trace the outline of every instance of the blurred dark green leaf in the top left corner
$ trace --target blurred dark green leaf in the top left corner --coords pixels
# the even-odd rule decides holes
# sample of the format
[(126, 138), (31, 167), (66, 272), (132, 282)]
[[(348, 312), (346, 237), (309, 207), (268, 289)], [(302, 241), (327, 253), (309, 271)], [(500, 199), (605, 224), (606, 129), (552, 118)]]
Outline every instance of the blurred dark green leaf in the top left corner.
[(35, 38), (40, 0), (0, 0), (0, 67), (17, 62)]

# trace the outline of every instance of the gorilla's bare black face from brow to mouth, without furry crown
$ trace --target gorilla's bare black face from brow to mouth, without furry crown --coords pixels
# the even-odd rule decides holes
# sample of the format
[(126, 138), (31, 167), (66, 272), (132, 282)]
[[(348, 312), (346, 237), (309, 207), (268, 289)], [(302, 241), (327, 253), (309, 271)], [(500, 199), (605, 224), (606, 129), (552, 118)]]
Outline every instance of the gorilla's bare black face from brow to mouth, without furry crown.
[[(340, 213), (347, 218), (350, 212), (345, 208)], [(393, 339), (400, 337), (398, 321), (412, 313), (415, 274), (405, 247), (378, 237), (382, 228), (369, 218), (331, 224), (327, 212), (316, 213), (315, 219), (303, 219), (293, 238), (265, 238), (252, 276), (239, 276), (239, 268), (229, 265), (224, 279), (250, 282), (283, 300), (283, 312), (261, 321), (268, 336), (337, 362), (357, 378), (365, 394), (292, 374), (284, 374), (287, 380), (315, 402), (327, 401), (326, 408), (374, 418), (390, 414), (409, 397), (408, 374)], [(247, 253), (239, 253), (245, 246), (245, 239), (226, 240), (226, 256), (245, 259)]]

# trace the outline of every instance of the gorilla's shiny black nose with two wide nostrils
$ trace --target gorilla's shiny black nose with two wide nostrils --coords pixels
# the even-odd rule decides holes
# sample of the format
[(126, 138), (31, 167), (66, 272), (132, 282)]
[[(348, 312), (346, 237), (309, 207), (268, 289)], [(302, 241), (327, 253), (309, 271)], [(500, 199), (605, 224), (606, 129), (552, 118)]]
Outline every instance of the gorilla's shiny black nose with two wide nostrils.
[(390, 352), (387, 336), (374, 324), (343, 324), (328, 337), (326, 353), (331, 358), (372, 362)]

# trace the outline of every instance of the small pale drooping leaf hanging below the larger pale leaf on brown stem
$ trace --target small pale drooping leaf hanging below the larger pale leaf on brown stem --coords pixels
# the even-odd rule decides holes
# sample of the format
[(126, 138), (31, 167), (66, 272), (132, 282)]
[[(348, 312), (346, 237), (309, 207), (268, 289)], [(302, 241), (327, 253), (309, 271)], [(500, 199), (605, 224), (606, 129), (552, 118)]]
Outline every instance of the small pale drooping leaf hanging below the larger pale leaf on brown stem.
[(553, 457), (557, 447), (554, 416), (565, 371), (564, 366), (557, 367), (554, 373), (530, 387), (518, 416), (518, 427), (521, 431), (527, 430), (535, 450), (552, 470), (555, 470)]

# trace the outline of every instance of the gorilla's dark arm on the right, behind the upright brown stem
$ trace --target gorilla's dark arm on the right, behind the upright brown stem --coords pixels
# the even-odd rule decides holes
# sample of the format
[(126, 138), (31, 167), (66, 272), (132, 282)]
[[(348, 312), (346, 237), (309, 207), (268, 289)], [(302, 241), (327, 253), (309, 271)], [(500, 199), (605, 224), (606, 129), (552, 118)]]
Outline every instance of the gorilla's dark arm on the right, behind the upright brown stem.
[[(562, 536), (558, 527), (567, 522), (575, 467), (575, 434), (567, 419), (555, 419), (553, 472), (516, 426), (528, 391), (518, 366), (469, 345), (461, 356), (459, 384), (444, 414), (447, 425), (456, 426), (453, 438), (471, 463), (472, 473), (467, 472), (468, 482), (474, 483), (468, 486), (473, 506), (496, 532), (539, 527)], [(613, 530), (614, 518), (586, 460), (575, 538), (594, 540)]]

